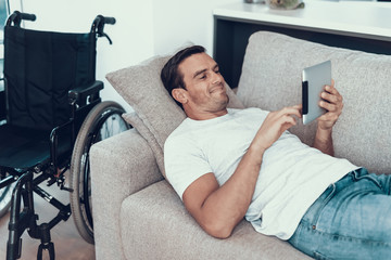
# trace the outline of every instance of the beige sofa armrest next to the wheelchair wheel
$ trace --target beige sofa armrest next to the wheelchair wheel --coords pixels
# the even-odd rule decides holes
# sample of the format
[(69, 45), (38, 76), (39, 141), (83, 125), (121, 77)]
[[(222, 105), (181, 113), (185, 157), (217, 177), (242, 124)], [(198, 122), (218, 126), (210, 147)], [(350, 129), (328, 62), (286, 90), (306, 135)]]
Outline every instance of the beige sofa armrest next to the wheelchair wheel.
[(163, 179), (147, 141), (130, 129), (90, 150), (97, 259), (124, 259), (119, 211), (123, 200)]

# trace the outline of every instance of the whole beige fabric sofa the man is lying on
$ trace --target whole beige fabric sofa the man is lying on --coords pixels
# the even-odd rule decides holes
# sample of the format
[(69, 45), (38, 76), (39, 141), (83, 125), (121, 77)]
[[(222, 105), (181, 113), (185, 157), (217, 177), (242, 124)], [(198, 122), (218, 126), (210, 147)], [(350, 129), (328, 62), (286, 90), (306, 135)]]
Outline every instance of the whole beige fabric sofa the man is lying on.
[[(163, 145), (185, 118), (160, 81), (166, 56), (108, 75), (135, 108), (135, 129), (90, 152), (94, 239), (105, 259), (310, 259), (287, 242), (256, 233), (242, 221), (227, 239), (209, 236), (165, 181)], [(301, 103), (301, 70), (331, 60), (344, 96), (333, 131), (336, 156), (373, 172), (391, 172), (391, 57), (325, 47), (260, 31), (247, 49), (231, 107), (279, 109)], [(315, 125), (291, 129), (311, 144)]]

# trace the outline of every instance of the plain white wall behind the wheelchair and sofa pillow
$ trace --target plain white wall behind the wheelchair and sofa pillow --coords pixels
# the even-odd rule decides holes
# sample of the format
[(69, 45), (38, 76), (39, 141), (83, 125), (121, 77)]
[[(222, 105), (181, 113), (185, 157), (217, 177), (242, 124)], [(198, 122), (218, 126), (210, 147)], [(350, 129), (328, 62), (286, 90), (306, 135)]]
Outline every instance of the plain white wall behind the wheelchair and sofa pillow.
[[(22, 4), (21, 4), (22, 1)], [(88, 32), (98, 14), (114, 16), (98, 41), (97, 79), (104, 81), (103, 100), (130, 106), (104, 79), (104, 75), (138, 64), (156, 54), (171, 53), (187, 41), (202, 44), (212, 53), (213, 8), (241, 0), (10, 0), (11, 12), (37, 15), (25, 27), (39, 30)]]

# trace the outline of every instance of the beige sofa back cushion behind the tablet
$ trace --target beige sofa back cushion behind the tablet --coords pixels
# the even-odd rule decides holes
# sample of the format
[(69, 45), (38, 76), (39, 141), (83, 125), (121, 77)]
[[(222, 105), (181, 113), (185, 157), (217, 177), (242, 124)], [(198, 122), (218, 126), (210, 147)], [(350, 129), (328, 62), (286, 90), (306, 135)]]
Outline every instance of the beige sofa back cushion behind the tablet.
[[(333, 129), (336, 156), (379, 173), (391, 172), (391, 56), (326, 47), (275, 32), (251, 36), (238, 96), (244, 106), (267, 110), (301, 103), (301, 72), (331, 61), (331, 75), (344, 99)], [(312, 144), (316, 122), (291, 129)]]

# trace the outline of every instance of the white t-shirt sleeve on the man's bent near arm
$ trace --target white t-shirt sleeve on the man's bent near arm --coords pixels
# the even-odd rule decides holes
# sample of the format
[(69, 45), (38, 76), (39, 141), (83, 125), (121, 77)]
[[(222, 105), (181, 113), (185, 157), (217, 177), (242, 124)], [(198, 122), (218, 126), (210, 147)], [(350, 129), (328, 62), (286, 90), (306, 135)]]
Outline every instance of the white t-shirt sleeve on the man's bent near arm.
[(164, 167), (166, 178), (180, 199), (193, 181), (212, 172), (207, 158), (197, 146), (197, 142), (177, 136), (168, 136), (164, 144)]

